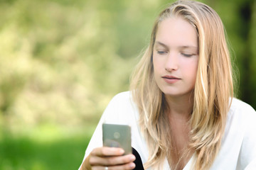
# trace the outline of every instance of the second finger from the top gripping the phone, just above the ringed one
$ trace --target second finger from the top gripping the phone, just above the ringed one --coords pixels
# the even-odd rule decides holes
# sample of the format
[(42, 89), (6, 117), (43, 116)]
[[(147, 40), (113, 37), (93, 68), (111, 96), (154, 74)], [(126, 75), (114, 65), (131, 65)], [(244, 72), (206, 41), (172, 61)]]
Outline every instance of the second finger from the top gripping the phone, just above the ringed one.
[(133, 154), (127, 154), (118, 157), (90, 157), (91, 165), (102, 165), (102, 166), (114, 166), (118, 164), (129, 164), (134, 162), (135, 156)]

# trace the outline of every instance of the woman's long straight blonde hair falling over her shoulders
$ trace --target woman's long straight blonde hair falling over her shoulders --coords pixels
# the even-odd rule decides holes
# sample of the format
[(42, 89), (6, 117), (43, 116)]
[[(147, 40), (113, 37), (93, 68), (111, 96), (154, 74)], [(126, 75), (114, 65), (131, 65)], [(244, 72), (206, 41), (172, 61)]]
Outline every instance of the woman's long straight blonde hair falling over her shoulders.
[(198, 34), (199, 60), (188, 146), (196, 154), (194, 169), (209, 169), (225, 130), (229, 99), (233, 98), (233, 75), (223, 23), (212, 8), (196, 1), (176, 1), (159, 14), (149, 47), (132, 74), (130, 88), (149, 149), (149, 159), (144, 166), (162, 169), (171, 151), (169, 119), (164, 114), (166, 100), (154, 79), (152, 56), (159, 23), (172, 16), (191, 23)]

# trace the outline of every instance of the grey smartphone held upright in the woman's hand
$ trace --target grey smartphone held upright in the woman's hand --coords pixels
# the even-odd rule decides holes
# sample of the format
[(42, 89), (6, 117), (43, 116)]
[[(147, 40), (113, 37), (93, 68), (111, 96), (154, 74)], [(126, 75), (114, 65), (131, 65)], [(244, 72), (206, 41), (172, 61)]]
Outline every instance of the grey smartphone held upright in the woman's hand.
[(121, 147), (124, 154), (132, 154), (131, 127), (129, 125), (102, 124), (104, 147)]

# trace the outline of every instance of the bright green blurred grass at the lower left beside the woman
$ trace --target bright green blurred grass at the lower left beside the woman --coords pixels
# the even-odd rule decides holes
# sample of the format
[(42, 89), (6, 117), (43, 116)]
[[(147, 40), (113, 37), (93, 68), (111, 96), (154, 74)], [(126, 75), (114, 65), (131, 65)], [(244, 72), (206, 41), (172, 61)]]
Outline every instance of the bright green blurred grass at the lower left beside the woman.
[(22, 135), (4, 132), (0, 139), (0, 169), (78, 169), (94, 128), (63, 132), (49, 126)]

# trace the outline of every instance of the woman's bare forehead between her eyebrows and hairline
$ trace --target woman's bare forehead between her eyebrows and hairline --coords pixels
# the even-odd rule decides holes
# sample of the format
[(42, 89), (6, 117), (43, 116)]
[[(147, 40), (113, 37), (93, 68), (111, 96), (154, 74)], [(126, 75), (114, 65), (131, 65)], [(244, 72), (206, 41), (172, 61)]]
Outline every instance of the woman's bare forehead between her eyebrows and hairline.
[(198, 35), (191, 23), (180, 17), (171, 17), (159, 23), (156, 42), (174, 46), (198, 47)]

